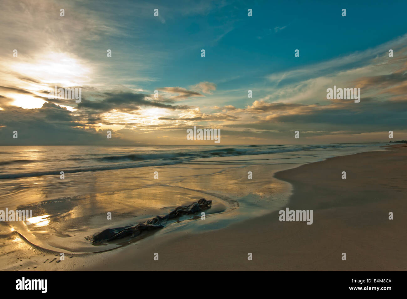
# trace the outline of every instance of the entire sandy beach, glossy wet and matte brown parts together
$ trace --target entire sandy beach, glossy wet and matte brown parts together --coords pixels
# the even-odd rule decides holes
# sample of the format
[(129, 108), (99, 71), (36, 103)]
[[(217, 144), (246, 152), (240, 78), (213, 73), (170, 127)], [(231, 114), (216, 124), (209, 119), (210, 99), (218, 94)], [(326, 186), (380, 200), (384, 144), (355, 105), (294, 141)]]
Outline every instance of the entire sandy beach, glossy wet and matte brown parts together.
[[(64, 182), (54, 199), (39, 196), (39, 187), (27, 189), (28, 202), (20, 206), (48, 217), (35, 227), (2, 223), (2, 270), (406, 270), (406, 149), (322, 147), (77, 172), (71, 188)], [(49, 176), (38, 178), (50, 185)], [(137, 240), (96, 246), (84, 239), (199, 198), (213, 201), (205, 220), (184, 217)], [(279, 221), (286, 207), (313, 210), (312, 225)]]

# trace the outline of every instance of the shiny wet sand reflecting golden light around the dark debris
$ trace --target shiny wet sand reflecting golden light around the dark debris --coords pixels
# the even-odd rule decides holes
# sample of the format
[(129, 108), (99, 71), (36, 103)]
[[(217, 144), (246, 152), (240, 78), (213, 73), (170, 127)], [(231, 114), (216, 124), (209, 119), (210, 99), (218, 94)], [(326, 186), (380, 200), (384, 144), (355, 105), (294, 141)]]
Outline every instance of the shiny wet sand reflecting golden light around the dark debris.
[[(6, 206), (32, 209), (35, 216), (43, 215), (43, 218), (31, 226), (23, 222), (0, 222), (0, 268), (7, 271), (82, 270), (104, 264), (103, 260), (122, 256), (123, 252), (133, 256), (140, 249), (155, 246), (156, 242), (213, 231), (268, 214), (286, 203), (292, 190), (289, 183), (274, 178), (274, 173), (299, 164), (266, 165), (264, 161), (270, 162), (256, 160), (256, 164), (248, 165), (246, 161), (232, 164), (215, 161), (83, 172), (66, 177), (63, 183), (70, 187), (68, 190), (58, 187), (59, 177), (22, 178), (21, 183), (27, 182), (30, 186), (34, 179), (35, 187), (28, 188), (25, 196), (21, 193), (7, 196)], [(153, 179), (155, 170), (160, 172), (159, 179)], [(255, 180), (248, 180), (248, 171), (254, 172)], [(267, 175), (257, 176), (262, 173)], [(55, 180), (57, 188), (44, 192)], [(171, 220), (163, 229), (137, 238), (96, 245), (85, 240), (86, 236), (106, 228), (142, 223), (200, 198), (212, 200), (205, 220), (200, 220), (200, 214), (190, 215), (179, 221)], [(107, 220), (106, 212), (112, 212), (112, 220)], [(126, 247), (131, 249), (125, 251)], [(65, 260), (60, 260), (60, 253), (65, 254)]]

